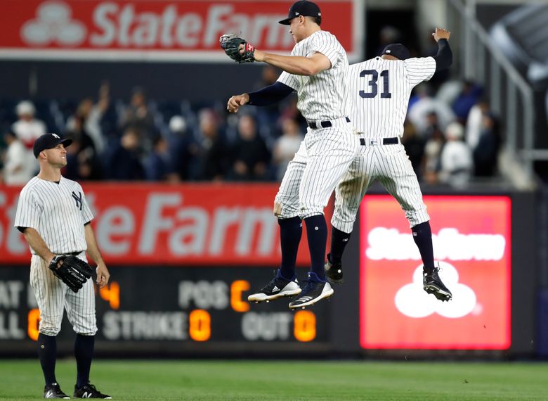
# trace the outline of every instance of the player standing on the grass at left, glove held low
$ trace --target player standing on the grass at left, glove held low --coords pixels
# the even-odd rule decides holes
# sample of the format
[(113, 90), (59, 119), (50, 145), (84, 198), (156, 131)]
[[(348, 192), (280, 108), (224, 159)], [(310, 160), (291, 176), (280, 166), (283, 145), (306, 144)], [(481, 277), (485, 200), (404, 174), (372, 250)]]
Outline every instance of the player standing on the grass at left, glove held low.
[[(33, 153), (38, 159), (40, 171), (20, 193), (15, 227), (25, 236), (32, 253), (30, 285), (40, 310), (38, 355), (46, 381), (44, 398), (69, 398), (60, 389), (55, 374), (56, 336), (65, 309), (77, 333), (74, 343), (77, 363), (74, 397), (111, 398), (89, 383), (97, 332), (93, 283), (84, 277), (77, 283), (78, 286), (72, 286), (71, 280), (78, 272), (69, 272), (68, 278), (60, 273), (63, 265), (66, 264), (65, 269), (70, 268), (67, 255), (81, 260), (79, 263), (83, 264), (87, 250), (97, 263), (98, 286), (105, 286), (110, 277), (89, 224), (93, 215), (84, 191), (77, 182), (61, 176), (61, 168), (67, 165), (65, 148), (71, 143), (71, 139), (62, 139), (56, 134), (44, 134), (34, 141)], [(65, 284), (65, 280), (70, 286)]]

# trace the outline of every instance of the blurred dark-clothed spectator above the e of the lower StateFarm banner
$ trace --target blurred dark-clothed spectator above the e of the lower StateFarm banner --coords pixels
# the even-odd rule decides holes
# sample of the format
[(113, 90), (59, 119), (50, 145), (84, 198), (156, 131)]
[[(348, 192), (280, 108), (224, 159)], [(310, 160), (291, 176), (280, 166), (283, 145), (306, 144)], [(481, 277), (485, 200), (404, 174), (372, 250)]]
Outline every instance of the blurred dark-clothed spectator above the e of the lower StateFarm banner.
[(139, 180), (145, 178), (139, 158), (139, 134), (132, 127), (127, 128), (107, 158), (106, 175), (109, 179)]

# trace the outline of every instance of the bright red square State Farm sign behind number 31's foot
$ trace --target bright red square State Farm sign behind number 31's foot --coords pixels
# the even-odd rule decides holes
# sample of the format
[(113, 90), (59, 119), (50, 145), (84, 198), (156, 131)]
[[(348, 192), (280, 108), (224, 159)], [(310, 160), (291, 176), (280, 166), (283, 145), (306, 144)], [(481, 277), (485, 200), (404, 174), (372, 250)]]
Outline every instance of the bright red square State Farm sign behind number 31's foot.
[(511, 343), (511, 200), (425, 196), (450, 302), (422, 288), (400, 206), (366, 196), (360, 222), (360, 343), (367, 349), (505, 350)]

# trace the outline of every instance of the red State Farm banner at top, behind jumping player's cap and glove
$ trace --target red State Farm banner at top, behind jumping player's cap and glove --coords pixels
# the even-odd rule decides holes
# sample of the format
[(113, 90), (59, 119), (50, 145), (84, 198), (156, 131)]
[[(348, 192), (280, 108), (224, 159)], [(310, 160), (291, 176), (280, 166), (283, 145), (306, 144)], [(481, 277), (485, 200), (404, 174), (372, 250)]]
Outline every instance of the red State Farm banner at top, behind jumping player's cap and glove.
[[(0, 0), (0, 58), (230, 62), (218, 44), (239, 33), (258, 49), (287, 53), (293, 1)], [(360, 58), (358, 0), (318, 1), (322, 29)]]

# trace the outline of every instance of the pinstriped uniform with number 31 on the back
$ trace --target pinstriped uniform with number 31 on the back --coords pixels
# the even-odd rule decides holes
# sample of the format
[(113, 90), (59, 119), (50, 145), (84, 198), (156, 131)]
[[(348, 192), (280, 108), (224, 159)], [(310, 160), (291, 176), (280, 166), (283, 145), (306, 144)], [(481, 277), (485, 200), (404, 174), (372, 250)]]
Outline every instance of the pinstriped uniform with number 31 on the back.
[(417, 175), (400, 138), (413, 87), (434, 72), (432, 57), (405, 61), (376, 57), (348, 67), (351, 120), (362, 146), (335, 191), (335, 228), (352, 231), (360, 202), (377, 179), (398, 200), (410, 227), (429, 221)]

